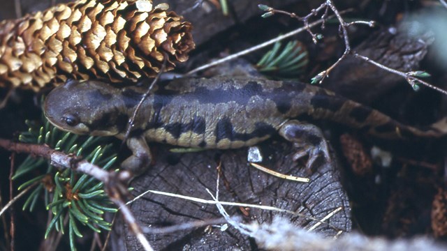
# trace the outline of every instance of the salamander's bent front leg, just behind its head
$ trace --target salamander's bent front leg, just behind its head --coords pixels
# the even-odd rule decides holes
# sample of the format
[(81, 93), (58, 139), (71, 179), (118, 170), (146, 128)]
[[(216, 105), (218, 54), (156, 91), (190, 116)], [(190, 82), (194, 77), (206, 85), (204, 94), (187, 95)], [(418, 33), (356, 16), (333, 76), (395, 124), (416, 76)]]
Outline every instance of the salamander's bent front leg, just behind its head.
[(133, 154), (122, 162), (121, 167), (138, 176), (145, 172), (151, 164), (152, 155), (149, 146), (147, 146), (145, 137), (143, 136), (130, 137), (126, 143)]

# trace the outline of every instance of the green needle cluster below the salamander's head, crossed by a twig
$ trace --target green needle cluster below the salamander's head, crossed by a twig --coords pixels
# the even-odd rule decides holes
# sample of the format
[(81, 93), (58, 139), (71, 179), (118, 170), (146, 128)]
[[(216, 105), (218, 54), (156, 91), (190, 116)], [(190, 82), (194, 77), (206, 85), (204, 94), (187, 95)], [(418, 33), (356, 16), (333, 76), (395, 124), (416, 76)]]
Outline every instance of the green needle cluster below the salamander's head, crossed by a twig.
[[(31, 144), (47, 144), (58, 151), (72, 153), (93, 164), (109, 169), (116, 160), (112, 144), (105, 144), (101, 137), (80, 137), (70, 132), (63, 132), (52, 126), (45, 118), (42, 124), (26, 121), (29, 127), (19, 140)], [(36, 185), (22, 207), (33, 211), (38, 199), (45, 201), (45, 207), (52, 212), (52, 220), (47, 226), (45, 238), (53, 229), (64, 234), (68, 225), (71, 250), (75, 249), (76, 236), (82, 237), (79, 226), (87, 226), (96, 232), (110, 230), (110, 222), (103, 219), (105, 212), (115, 213), (117, 209), (103, 190), (103, 183), (96, 179), (73, 172), (71, 169), (58, 170), (48, 160), (27, 156), (17, 168), (13, 179), (29, 177), (18, 190), (29, 185)], [(43, 195), (43, 196), (42, 196)], [(68, 219), (68, 220), (66, 220)]]

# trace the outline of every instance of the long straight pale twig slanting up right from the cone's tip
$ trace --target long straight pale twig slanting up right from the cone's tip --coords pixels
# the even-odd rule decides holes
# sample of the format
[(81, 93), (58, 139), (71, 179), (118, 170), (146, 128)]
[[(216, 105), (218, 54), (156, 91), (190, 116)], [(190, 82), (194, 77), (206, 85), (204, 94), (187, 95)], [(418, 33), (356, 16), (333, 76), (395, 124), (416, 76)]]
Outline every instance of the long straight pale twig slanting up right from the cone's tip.
[[(340, 13), (346, 13), (348, 11), (349, 10), (344, 10), (344, 11), (342, 11)], [(334, 17), (334, 16), (330, 16), (328, 18), (331, 18), (331, 17)], [(315, 22), (312, 22), (312, 24), (309, 24), (309, 25), (307, 25), (305, 27), (301, 27), (299, 29), (295, 29), (294, 31), (291, 31), (291, 32), (286, 33), (284, 35), (277, 36), (276, 38), (273, 38), (271, 40), (265, 41), (264, 43), (261, 43), (259, 45), (254, 46), (254, 47), (250, 47), (249, 49), (243, 50), (242, 52), (237, 52), (235, 54), (231, 54), (230, 56), (226, 56), (223, 59), (219, 59), (219, 60), (213, 61), (211, 63), (207, 63), (207, 64), (205, 64), (203, 66), (200, 66), (198, 68), (195, 68), (195, 69), (189, 71), (189, 73), (186, 73), (186, 76), (187, 75), (193, 75), (194, 73), (198, 73), (200, 70), (205, 70), (207, 68), (211, 68), (212, 66), (217, 66), (218, 64), (224, 63), (226, 61), (237, 59), (240, 56), (244, 56), (244, 55), (249, 54), (251, 52), (255, 52), (256, 50), (261, 50), (262, 48), (267, 47), (269, 45), (273, 45), (274, 43), (277, 43), (278, 41), (284, 40), (284, 39), (289, 38), (291, 36), (295, 36), (296, 34), (301, 33), (302, 31), (307, 31), (307, 29), (312, 28), (312, 27), (314, 27), (314, 26), (316, 26), (318, 24), (321, 24), (323, 22), (324, 22), (324, 20), (317, 20)]]

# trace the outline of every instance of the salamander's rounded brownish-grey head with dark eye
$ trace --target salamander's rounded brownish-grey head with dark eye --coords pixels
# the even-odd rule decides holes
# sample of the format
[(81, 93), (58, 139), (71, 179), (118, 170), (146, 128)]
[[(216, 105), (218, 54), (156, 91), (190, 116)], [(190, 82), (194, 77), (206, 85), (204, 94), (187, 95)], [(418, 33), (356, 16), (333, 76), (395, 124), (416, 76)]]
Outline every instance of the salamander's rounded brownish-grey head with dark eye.
[(45, 99), (45, 117), (57, 128), (80, 135), (109, 136), (119, 131), (114, 96), (117, 89), (103, 82), (69, 80)]

